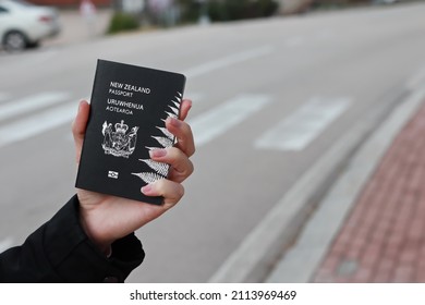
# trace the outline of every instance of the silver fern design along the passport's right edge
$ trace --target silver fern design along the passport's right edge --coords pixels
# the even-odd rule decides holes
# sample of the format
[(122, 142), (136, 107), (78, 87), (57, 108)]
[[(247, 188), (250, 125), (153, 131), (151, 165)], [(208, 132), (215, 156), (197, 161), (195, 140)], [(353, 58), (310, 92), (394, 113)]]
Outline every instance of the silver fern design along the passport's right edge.
[[(178, 96), (174, 97), (174, 99), (171, 100), (171, 105), (168, 105), (167, 110), (165, 113), (168, 117), (178, 119), (179, 118), (179, 110), (180, 110), (180, 103), (182, 101), (182, 94), (177, 93)], [(165, 120), (162, 120), (165, 122)], [(160, 135), (153, 135), (151, 137), (155, 138), (159, 147), (146, 147), (149, 150), (153, 149), (162, 149), (167, 147), (171, 147), (174, 145), (174, 135), (171, 134), (166, 127), (163, 126), (156, 126)], [(142, 179), (145, 183), (154, 183), (157, 180), (165, 179), (168, 176), (168, 172), (170, 170), (170, 166), (162, 162), (156, 162), (151, 159), (138, 159), (139, 161), (147, 164), (151, 171), (150, 172), (138, 172), (138, 173), (132, 173), (133, 175), (138, 176)]]

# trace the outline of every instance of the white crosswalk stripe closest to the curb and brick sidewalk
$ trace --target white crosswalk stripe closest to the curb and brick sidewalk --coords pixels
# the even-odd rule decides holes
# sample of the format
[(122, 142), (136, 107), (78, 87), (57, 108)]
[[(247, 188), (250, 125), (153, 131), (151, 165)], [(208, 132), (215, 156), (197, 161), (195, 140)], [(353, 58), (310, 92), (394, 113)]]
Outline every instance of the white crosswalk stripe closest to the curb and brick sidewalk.
[(260, 149), (303, 150), (351, 105), (351, 98), (312, 98), (255, 142)]

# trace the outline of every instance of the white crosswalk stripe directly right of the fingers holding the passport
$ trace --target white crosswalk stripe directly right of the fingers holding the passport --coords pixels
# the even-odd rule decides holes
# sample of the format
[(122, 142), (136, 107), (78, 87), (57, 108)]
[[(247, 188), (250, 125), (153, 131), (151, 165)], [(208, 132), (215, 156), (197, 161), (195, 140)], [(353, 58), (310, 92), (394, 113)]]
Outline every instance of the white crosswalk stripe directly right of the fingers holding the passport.
[(269, 96), (241, 95), (190, 121), (197, 147), (212, 141), (270, 102)]

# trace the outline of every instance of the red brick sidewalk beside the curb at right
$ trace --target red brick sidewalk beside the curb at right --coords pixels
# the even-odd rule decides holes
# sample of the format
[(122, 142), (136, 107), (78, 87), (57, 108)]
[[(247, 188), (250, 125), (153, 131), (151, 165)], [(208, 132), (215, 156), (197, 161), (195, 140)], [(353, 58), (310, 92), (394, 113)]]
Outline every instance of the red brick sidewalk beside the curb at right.
[(397, 136), (314, 282), (425, 282), (425, 106)]

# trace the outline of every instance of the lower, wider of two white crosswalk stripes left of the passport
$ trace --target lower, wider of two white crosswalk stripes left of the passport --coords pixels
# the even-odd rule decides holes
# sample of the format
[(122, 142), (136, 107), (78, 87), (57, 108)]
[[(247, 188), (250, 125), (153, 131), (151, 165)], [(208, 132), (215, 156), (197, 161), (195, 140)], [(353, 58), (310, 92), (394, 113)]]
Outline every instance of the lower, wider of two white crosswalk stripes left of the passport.
[(71, 122), (76, 114), (76, 103), (65, 103), (4, 125), (0, 127), (0, 147)]

